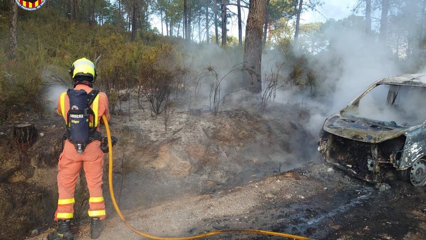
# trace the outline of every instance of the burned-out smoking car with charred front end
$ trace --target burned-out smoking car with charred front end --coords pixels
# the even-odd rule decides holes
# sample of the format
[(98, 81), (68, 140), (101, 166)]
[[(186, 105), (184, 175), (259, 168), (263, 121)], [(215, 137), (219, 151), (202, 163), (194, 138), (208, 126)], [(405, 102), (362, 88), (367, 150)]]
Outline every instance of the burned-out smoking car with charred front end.
[(381, 182), (390, 169), (426, 184), (426, 74), (376, 81), (326, 119), (318, 150), (353, 176)]

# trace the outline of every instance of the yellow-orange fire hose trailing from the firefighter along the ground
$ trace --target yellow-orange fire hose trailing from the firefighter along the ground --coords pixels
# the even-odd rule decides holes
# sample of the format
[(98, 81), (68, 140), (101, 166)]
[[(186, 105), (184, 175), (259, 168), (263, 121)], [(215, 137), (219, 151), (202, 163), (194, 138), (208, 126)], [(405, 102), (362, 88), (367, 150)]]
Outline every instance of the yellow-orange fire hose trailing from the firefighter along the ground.
[(108, 146), (109, 146), (109, 152), (108, 152), (108, 157), (109, 157), (108, 183), (109, 183), (109, 194), (111, 195), (112, 205), (114, 205), (114, 208), (117, 211), (118, 215), (120, 216), (120, 219), (122, 220), (122, 222), (130, 230), (134, 231), (135, 233), (139, 234), (140, 236), (148, 238), (148, 239), (155, 239), (155, 240), (191, 240), (191, 239), (206, 238), (206, 237), (209, 237), (209, 236), (222, 234), (222, 233), (246, 232), (246, 233), (255, 233), (255, 234), (261, 234), (261, 235), (278, 236), (278, 237), (289, 238), (289, 239), (297, 239), (297, 240), (313, 240), (313, 239), (310, 239), (310, 238), (305, 238), (305, 237), (301, 237), (301, 236), (297, 236), (297, 235), (291, 235), (291, 234), (287, 234), (287, 233), (277, 233), (277, 232), (271, 232), (271, 231), (265, 231), (265, 230), (243, 229), (243, 228), (217, 230), (217, 231), (212, 231), (212, 232), (208, 232), (208, 233), (203, 233), (203, 234), (198, 234), (198, 235), (193, 235), (193, 236), (187, 236), (187, 237), (158, 237), (158, 236), (153, 236), (151, 234), (144, 233), (144, 232), (137, 230), (132, 225), (130, 225), (129, 222), (127, 222), (124, 219), (122, 211), (120, 210), (120, 208), (117, 205), (117, 202), (115, 201), (114, 189), (112, 187), (112, 162), (113, 162), (113, 160), (112, 160), (111, 132), (109, 131), (108, 121), (106, 120), (106, 117), (102, 116), (102, 119), (105, 123), (106, 137), (108, 139)]

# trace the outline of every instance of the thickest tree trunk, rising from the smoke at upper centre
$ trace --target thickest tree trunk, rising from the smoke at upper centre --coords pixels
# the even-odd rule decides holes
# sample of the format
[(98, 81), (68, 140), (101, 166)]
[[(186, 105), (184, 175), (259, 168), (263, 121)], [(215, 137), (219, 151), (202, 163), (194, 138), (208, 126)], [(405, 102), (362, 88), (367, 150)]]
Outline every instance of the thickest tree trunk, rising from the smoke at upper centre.
[(245, 28), (243, 81), (252, 93), (262, 92), (262, 37), (265, 23), (266, 1), (250, 0)]

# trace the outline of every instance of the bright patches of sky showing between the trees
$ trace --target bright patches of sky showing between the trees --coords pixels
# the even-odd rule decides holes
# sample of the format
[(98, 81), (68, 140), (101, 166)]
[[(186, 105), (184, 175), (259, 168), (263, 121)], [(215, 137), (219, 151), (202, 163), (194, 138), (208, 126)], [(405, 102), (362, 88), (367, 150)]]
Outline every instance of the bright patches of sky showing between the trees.
[[(353, 7), (355, 6), (357, 0), (322, 0), (322, 6), (319, 6), (317, 10), (305, 11), (301, 16), (301, 24), (311, 23), (311, 22), (325, 22), (328, 18), (334, 18), (336, 20), (345, 18), (351, 14)], [(236, 13), (237, 7), (230, 6), (229, 10)], [(244, 22), (247, 20), (248, 9), (242, 8), (242, 17), (243, 17), (243, 29), (245, 28)], [(161, 32), (161, 20), (158, 17), (152, 18), (152, 25), (156, 27)], [(166, 25), (163, 26), (164, 32), (166, 32)], [(213, 29), (211, 30), (211, 32)], [(243, 31), (243, 35), (244, 35)], [(235, 19), (231, 19), (228, 23), (228, 35), (238, 37), (238, 24)]]

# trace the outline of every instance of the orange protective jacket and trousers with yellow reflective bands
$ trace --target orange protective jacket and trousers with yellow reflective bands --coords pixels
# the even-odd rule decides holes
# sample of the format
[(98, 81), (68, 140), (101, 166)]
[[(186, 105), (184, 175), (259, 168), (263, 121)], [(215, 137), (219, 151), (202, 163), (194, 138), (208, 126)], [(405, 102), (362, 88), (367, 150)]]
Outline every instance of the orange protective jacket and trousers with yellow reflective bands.
[[(75, 90), (85, 90), (89, 93), (92, 88), (79, 84)], [(61, 109), (64, 106), (64, 111)], [(91, 105), (91, 109), (93, 105)], [(70, 108), (69, 98), (65, 96), (64, 104), (61, 104), (61, 96), (58, 99), (58, 113), (62, 115), (62, 112), (68, 112)], [(111, 118), (108, 111), (108, 98), (105, 93), (99, 93), (99, 105), (98, 105), (98, 121), (102, 122), (102, 115), (106, 116), (106, 119)], [(90, 116), (90, 122), (91, 122)], [(100, 125), (97, 126), (97, 131), (100, 130)], [(81, 166), (83, 166), (87, 186), (89, 188), (90, 199), (89, 199), (89, 216), (99, 217), (101, 220), (105, 219), (105, 203), (104, 197), (102, 196), (102, 175), (104, 165), (104, 153), (101, 150), (101, 142), (94, 140), (86, 146), (83, 153), (77, 153), (76, 148), (68, 140), (65, 141), (65, 145), (61, 156), (59, 157), (58, 164), (58, 208), (55, 212), (55, 220), (59, 219), (70, 219), (74, 215), (74, 192), (76, 190), (76, 181), (78, 173), (80, 172)]]

